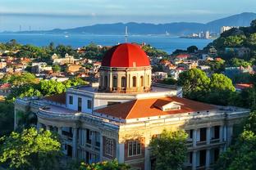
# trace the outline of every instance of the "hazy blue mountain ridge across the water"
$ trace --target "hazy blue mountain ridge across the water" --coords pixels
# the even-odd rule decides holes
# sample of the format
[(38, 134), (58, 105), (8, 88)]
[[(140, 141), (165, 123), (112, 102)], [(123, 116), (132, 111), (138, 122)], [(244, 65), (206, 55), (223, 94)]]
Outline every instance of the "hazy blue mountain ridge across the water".
[(256, 19), (256, 13), (244, 12), (234, 16), (228, 16), (219, 20), (213, 20), (207, 24), (195, 22), (174, 22), (167, 24), (147, 23), (115, 23), (100, 24), (78, 27), (74, 29), (53, 29), (48, 31), (23, 31), (19, 33), (41, 33), (41, 34), (124, 34), (125, 27), (129, 28), (130, 34), (166, 34), (187, 35), (201, 31), (219, 33), (222, 26), (249, 26), (251, 20)]

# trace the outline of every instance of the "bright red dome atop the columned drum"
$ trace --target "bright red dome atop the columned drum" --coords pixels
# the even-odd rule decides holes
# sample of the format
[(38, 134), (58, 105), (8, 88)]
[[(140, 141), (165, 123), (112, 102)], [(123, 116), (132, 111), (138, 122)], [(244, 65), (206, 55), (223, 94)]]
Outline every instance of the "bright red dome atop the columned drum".
[(103, 56), (102, 66), (106, 67), (144, 67), (149, 66), (149, 58), (138, 45), (122, 43), (112, 47)]

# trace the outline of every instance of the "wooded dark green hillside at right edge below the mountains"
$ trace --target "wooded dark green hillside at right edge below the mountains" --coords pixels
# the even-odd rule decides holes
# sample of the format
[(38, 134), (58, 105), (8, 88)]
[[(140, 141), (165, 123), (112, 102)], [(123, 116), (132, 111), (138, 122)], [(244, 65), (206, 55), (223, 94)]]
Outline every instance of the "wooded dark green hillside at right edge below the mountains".
[[(209, 47), (215, 47), (218, 52), (218, 56), (221, 56), (226, 60), (226, 65), (230, 66), (247, 66), (256, 64), (256, 20), (251, 22), (249, 27), (233, 28), (225, 31), (221, 34), (220, 38), (217, 38), (212, 43), (208, 44)], [(239, 59), (238, 52), (235, 48), (248, 47), (249, 54), (242, 56)]]

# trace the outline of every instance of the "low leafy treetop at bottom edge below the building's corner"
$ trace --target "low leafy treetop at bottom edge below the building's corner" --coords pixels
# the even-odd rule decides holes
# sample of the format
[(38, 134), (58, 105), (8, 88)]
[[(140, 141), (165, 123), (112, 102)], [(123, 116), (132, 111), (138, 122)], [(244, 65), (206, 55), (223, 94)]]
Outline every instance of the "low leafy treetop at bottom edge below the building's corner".
[(112, 161), (104, 161), (101, 163), (81, 163), (80, 170), (128, 170), (130, 166), (125, 163), (118, 163), (117, 159)]

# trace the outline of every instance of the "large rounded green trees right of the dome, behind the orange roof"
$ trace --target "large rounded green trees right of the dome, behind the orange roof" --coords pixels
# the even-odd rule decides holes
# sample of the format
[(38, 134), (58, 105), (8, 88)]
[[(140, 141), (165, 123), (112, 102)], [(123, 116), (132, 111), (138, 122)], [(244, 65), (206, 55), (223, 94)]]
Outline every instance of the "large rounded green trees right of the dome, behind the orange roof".
[[(256, 83), (255, 76), (250, 79)], [(183, 87), (185, 97), (196, 101), (256, 109), (256, 87), (235, 92), (231, 79), (223, 74), (208, 78), (202, 70), (190, 69), (180, 74), (177, 84)]]

